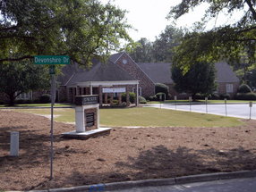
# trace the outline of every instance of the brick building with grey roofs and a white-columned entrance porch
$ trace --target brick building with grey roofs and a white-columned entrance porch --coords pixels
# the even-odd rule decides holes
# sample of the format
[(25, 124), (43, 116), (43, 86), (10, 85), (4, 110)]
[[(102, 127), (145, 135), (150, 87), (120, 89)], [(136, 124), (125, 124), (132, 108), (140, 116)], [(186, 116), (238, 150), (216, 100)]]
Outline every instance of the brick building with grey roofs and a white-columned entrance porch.
[[(63, 74), (58, 77), (57, 102), (73, 103), (74, 96), (97, 94), (100, 104), (109, 104), (114, 97), (121, 104), (122, 93), (134, 92), (137, 103), (138, 96), (155, 95), (156, 83), (166, 84), (172, 96), (178, 95), (173, 88), (171, 63), (135, 63), (125, 52), (112, 54), (107, 63), (96, 59), (92, 63), (87, 69), (78, 64), (64, 66)], [(226, 63), (215, 66), (217, 93), (235, 96), (239, 86), (235, 72)], [(38, 94), (30, 92), (28, 96), (35, 99)]]

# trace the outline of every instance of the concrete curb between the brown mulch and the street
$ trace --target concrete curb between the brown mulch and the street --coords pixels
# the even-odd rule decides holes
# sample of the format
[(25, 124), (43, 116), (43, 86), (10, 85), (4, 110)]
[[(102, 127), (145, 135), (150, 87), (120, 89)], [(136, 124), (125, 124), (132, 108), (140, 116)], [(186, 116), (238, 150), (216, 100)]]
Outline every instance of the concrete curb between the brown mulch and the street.
[[(181, 185), (193, 182), (203, 182), (221, 179), (243, 179), (256, 177), (255, 171), (217, 172), (209, 174), (190, 175), (170, 179), (145, 179), (134, 181), (122, 181), (106, 184), (95, 184), (90, 186), (79, 186), (73, 188), (52, 188), (48, 190), (30, 190), (30, 192), (84, 192), (84, 191), (113, 191), (125, 188), (157, 187), (167, 185)], [(14, 192), (14, 191), (5, 191)], [(18, 192), (18, 191), (15, 191)], [(21, 192), (21, 191), (20, 191)]]

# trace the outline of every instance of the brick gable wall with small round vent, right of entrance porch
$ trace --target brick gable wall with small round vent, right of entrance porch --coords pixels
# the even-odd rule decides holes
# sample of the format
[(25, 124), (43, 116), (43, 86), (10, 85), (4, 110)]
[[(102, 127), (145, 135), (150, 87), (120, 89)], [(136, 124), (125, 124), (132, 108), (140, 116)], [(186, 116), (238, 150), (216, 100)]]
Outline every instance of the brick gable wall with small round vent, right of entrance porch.
[[(123, 63), (124, 59), (127, 60), (126, 64)], [(130, 56), (124, 53), (115, 63), (118, 64), (122, 69), (124, 69), (124, 71), (127, 71), (130, 75), (132, 75), (134, 79), (138, 79), (140, 81), (139, 87), (142, 89), (142, 96), (155, 95), (154, 83), (143, 71), (141, 71), (141, 68), (137, 65), (137, 63), (134, 63), (132, 61)]]

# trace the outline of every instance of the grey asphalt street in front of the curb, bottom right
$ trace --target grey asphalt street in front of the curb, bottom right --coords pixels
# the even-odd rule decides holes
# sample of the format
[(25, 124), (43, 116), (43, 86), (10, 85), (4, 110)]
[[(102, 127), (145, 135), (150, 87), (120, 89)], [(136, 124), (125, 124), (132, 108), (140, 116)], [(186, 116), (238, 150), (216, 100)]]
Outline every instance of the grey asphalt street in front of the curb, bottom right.
[[(129, 188), (119, 192), (255, 192), (256, 178), (229, 179), (175, 186)], [(116, 190), (117, 192), (117, 190)]]

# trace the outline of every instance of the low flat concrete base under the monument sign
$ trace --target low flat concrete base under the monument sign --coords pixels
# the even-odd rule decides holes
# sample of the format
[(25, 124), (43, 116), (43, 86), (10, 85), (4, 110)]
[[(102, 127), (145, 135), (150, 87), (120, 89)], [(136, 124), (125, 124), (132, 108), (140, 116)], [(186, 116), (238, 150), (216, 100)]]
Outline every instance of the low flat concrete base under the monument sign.
[(98, 128), (98, 129), (87, 130), (84, 132), (77, 132), (76, 130), (73, 130), (71, 132), (63, 133), (62, 136), (64, 138), (87, 139), (87, 138), (93, 138), (101, 135), (108, 135), (111, 129), (112, 128)]

